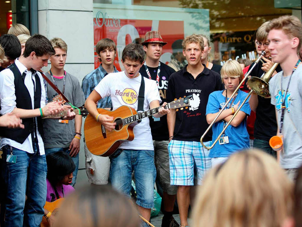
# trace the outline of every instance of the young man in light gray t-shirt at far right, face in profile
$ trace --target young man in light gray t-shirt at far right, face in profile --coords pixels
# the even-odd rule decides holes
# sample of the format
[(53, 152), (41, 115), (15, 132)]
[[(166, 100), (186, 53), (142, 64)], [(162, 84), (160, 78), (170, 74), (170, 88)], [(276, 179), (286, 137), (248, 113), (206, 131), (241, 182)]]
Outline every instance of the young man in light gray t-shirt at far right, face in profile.
[(283, 69), (269, 81), (271, 104), (276, 109), (277, 135), (283, 138), (280, 147), (283, 152), (277, 152), (281, 167), (295, 179), (302, 163), (302, 67), (297, 56), (302, 43), (302, 25), (295, 16), (281, 16), (273, 19), (266, 31), (271, 57)]

